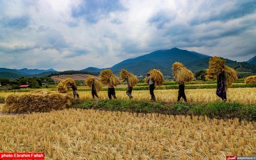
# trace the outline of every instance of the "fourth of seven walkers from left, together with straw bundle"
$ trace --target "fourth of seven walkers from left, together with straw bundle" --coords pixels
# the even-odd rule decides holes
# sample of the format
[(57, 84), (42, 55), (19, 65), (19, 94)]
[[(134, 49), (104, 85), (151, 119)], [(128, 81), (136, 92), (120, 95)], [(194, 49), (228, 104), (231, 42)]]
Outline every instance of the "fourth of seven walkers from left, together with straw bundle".
[(123, 69), (120, 72), (120, 76), (122, 77), (122, 82), (127, 81), (127, 89), (126, 94), (129, 96), (129, 99), (132, 99), (132, 86), (136, 86), (138, 81), (137, 77), (133, 74), (129, 73), (127, 70)]

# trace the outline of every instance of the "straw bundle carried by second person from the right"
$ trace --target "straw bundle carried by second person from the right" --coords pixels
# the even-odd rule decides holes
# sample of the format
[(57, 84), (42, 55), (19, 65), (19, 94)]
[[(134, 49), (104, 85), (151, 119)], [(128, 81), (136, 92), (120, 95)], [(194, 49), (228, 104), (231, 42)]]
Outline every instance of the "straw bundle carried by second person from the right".
[(184, 67), (182, 63), (175, 62), (172, 65), (173, 76), (175, 77), (176, 81), (180, 84), (185, 84), (194, 78), (194, 74), (188, 68)]

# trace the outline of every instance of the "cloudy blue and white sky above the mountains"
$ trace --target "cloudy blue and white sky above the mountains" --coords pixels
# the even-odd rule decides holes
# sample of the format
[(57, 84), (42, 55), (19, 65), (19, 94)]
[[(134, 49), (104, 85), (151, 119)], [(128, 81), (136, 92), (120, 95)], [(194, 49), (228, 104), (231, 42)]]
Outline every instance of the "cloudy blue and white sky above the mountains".
[(106, 68), (173, 47), (249, 60), (256, 1), (0, 0), (0, 68)]

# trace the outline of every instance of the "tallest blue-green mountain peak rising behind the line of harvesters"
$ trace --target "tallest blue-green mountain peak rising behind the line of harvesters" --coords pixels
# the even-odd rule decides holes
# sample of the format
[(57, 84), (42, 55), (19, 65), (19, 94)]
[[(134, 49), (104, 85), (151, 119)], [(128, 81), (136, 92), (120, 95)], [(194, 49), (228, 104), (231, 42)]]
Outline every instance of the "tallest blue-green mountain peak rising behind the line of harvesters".
[[(184, 65), (188, 65), (191, 61), (198, 61), (205, 58), (211, 58), (205, 54), (200, 54), (198, 52), (190, 52), (178, 48), (166, 49), (154, 51), (149, 54), (145, 54), (143, 56), (139, 56), (137, 58), (131, 58), (124, 60), (120, 63), (117, 63), (110, 69), (114, 74), (119, 74), (120, 70), (127, 69), (129, 72), (132, 72), (136, 75), (145, 75), (148, 70), (152, 68), (157, 68), (163, 72), (164, 75), (172, 75), (172, 64), (175, 61), (179, 61)], [(84, 70), (90, 70), (89, 67)], [(102, 70), (100, 68), (94, 68), (94, 70)], [(92, 71), (92, 70), (90, 70)]]

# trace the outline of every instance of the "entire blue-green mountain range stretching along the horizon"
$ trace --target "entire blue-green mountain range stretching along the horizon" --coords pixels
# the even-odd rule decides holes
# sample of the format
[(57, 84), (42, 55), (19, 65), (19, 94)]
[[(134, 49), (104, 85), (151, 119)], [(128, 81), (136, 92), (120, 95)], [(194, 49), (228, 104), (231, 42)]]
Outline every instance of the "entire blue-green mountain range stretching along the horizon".
[[(204, 70), (209, 65), (209, 59), (211, 56), (206, 54), (201, 54), (194, 51), (187, 51), (178, 48), (159, 50), (150, 52), (143, 56), (138, 56), (137, 58), (130, 58), (113, 67), (109, 67), (114, 74), (119, 74), (120, 70), (126, 69), (132, 74), (137, 76), (145, 75), (152, 68), (157, 68), (163, 72), (164, 76), (172, 76), (172, 64), (175, 61), (183, 63), (187, 68), (192, 70), (192, 72), (198, 72)], [(226, 60), (226, 64), (229, 67), (234, 68), (238, 74), (253, 74), (256, 73), (256, 56), (251, 58), (248, 61), (237, 62), (232, 60)], [(74, 72), (101, 72), (106, 68), (96, 68), (88, 67), (83, 70), (74, 71)], [(9, 68), (0, 68), (0, 78), (19, 78), (19, 77), (42, 77), (51, 74), (60, 75), (61, 72), (58, 72), (52, 68), (48, 70), (39, 70), (39, 69), (9, 69)], [(68, 72), (70, 74), (71, 72)], [(65, 74), (65, 72), (63, 72)], [(87, 73), (88, 74), (88, 73)]]

